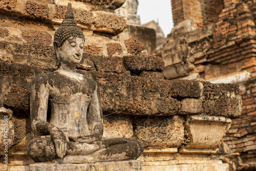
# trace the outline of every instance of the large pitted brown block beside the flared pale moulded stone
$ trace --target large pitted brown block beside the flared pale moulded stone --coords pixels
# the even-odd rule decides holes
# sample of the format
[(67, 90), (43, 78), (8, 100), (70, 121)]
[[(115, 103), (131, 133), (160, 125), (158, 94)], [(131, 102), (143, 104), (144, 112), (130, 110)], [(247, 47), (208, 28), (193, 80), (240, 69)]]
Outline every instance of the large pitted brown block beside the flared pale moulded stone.
[(144, 148), (175, 148), (184, 142), (182, 116), (135, 118), (134, 134)]

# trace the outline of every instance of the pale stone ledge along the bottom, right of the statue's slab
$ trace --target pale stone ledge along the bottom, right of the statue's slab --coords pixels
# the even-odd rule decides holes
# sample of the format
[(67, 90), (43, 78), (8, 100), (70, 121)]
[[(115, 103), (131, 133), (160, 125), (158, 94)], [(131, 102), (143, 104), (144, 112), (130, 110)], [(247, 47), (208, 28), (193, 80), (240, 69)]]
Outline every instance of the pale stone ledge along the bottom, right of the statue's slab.
[(221, 160), (170, 160), (143, 162), (142, 171), (168, 171), (168, 170), (207, 170), (207, 171), (228, 171), (229, 165)]

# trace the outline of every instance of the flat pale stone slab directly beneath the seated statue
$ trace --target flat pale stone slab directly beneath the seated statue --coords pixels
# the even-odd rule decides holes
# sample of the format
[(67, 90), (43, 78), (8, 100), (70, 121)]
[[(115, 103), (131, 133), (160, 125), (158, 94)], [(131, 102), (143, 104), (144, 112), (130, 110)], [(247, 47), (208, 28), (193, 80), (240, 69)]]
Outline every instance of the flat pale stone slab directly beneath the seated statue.
[(127, 160), (127, 161), (111, 161), (111, 162), (96, 162), (88, 164), (58, 164), (58, 163), (34, 163), (29, 165), (29, 171), (137, 171), (142, 170), (141, 161)]

